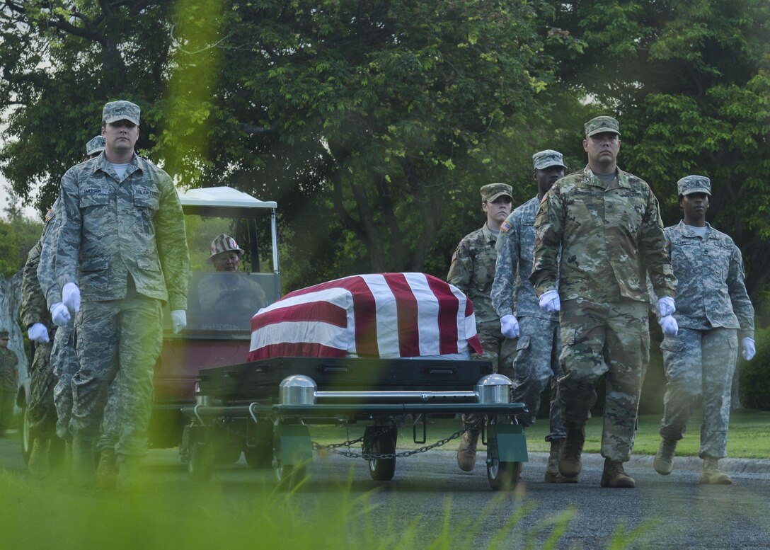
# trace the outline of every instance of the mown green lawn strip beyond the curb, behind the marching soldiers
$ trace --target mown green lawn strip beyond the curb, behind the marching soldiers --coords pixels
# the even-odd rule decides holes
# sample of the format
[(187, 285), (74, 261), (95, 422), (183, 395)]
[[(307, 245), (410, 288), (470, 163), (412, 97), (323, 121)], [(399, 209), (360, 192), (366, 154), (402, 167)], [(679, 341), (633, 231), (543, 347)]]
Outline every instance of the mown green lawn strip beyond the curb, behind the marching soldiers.
[[(591, 418), (586, 426), (586, 442), (584, 451), (598, 453), (601, 445), (601, 418)], [(634, 454), (654, 454), (658, 451), (661, 436), (660, 414), (643, 414), (639, 417), (639, 429), (634, 444)], [(448, 435), (460, 429), (460, 421), (454, 419), (431, 418), (427, 426), (427, 444), (446, 438)], [(697, 456), (700, 444), (701, 418), (693, 415), (689, 424), (688, 433), (682, 439), (676, 450), (678, 456)], [(357, 424), (349, 429), (335, 426), (311, 426), (310, 434), (313, 441), (320, 444), (338, 443), (346, 439), (358, 438), (363, 434), (365, 424)], [(534, 426), (527, 428), (527, 449), (531, 452), (547, 452), (550, 444), (544, 441), (548, 431), (547, 420), (538, 420)], [(418, 431), (418, 436), (422, 430)], [(457, 441), (450, 441), (442, 449), (456, 450)], [(410, 419), (407, 418), (407, 426), (399, 430), (398, 447), (401, 449), (420, 448), (422, 445), (414, 444), (410, 428)], [(360, 444), (353, 445), (354, 451), (360, 451)], [(770, 458), (770, 412), (741, 410), (733, 411), (730, 417), (730, 431), (728, 433), (727, 454), (730, 458)]]

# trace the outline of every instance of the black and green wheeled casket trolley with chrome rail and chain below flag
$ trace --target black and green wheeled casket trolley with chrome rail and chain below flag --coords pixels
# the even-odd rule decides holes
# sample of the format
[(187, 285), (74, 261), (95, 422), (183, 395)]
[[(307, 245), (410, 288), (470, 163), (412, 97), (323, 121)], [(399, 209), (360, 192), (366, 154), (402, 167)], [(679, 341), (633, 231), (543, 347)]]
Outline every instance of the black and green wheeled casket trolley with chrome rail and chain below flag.
[[(524, 430), (511, 403), (511, 381), (488, 361), (276, 357), (200, 371), (196, 405), (182, 409), (180, 452), (193, 479), (210, 477), (217, 462), (241, 451), (253, 468), (272, 467), (276, 479), (296, 485), (313, 460), (310, 426), (366, 423), (362, 452), (377, 481), (393, 478), (397, 433), (407, 415), (413, 441), (424, 444), (431, 415), (477, 414), (487, 444), (487, 478), (498, 490), (516, 485), (527, 461)], [(420, 434), (421, 432), (421, 434)], [(460, 437), (462, 431), (450, 439)], [(331, 446), (336, 448), (337, 445)]]

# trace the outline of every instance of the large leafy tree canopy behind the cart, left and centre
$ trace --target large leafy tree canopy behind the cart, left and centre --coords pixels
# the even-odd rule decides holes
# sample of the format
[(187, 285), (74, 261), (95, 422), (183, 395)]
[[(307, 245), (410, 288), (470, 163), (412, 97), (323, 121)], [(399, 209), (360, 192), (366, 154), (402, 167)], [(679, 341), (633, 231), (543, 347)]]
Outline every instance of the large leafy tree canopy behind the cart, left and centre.
[(477, 188), (514, 179), (544, 136), (543, 5), (5, 2), (15, 141), (0, 165), (25, 198), (42, 180), (44, 207), (94, 132), (82, 121), (122, 96), (142, 106), (140, 148), (179, 183), (280, 202), (306, 283), (444, 272), (434, 243), (477, 225), (456, 223)]

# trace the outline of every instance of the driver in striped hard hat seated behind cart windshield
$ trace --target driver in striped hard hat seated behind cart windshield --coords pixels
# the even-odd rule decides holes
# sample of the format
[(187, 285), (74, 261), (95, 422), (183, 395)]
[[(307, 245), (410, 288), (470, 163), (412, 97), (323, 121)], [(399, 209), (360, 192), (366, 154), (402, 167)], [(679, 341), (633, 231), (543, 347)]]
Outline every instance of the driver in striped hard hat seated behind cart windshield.
[(267, 303), (264, 290), (245, 273), (239, 273), (243, 249), (232, 236), (216, 236), (210, 252), (209, 263), (218, 273), (203, 278), (198, 286), (201, 310), (209, 317), (206, 324), (248, 327), (251, 317)]

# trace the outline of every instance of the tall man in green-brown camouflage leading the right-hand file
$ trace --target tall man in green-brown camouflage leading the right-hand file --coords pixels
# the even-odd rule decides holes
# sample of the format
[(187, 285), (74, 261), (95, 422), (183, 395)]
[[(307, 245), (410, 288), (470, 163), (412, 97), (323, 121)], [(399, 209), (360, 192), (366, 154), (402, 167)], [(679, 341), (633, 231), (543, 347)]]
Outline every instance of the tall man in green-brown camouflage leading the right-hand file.
[(601, 486), (634, 487), (623, 463), (634, 446), (649, 360), (645, 273), (661, 297), (661, 317), (675, 310), (676, 280), (658, 200), (647, 183), (618, 169), (618, 121), (591, 119), (585, 136), (588, 166), (557, 181), (537, 211), (530, 281), (540, 306), (561, 312), (564, 376), (558, 394), (567, 440), (559, 471), (571, 477), (581, 471), (584, 424), (597, 400), (598, 379), (606, 374)]

